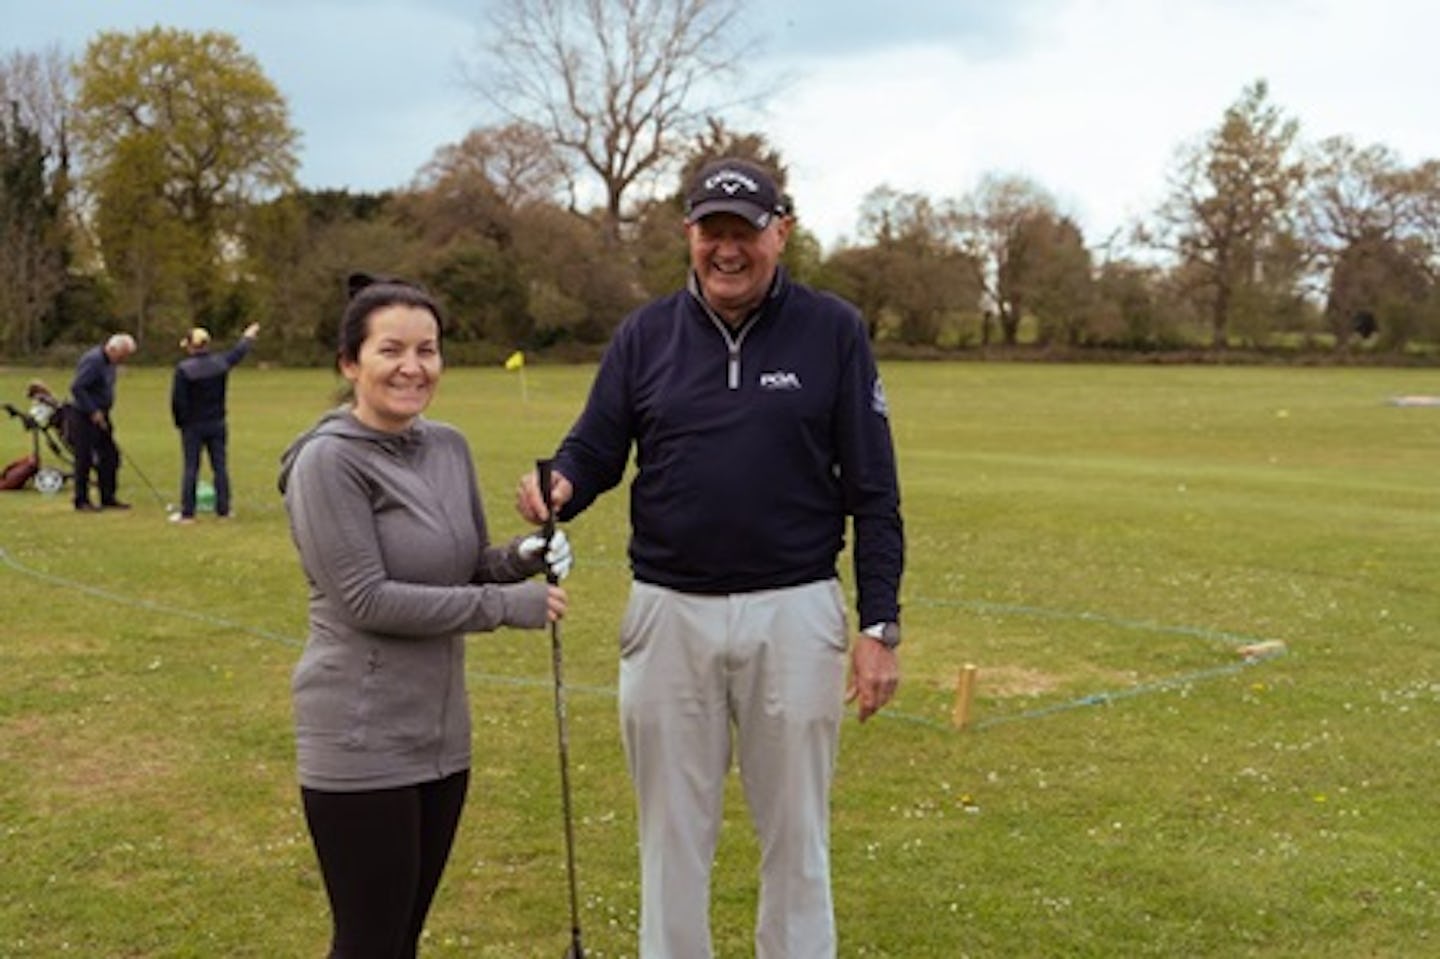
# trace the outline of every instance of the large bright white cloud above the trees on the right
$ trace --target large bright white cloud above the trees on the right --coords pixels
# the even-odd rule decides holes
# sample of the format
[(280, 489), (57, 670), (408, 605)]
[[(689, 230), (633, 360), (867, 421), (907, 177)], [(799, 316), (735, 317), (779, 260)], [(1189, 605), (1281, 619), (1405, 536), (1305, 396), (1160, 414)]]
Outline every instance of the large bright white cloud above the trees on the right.
[(798, 58), (793, 84), (755, 121), (827, 246), (854, 236), (880, 184), (959, 197), (988, 171), (1031, 177), (1102, 242), (1159, 204), (1175, 151), (1256, 79), (1308, 138), (1437, 156), (1437, 32), (1440, 13), (1401, 0), (1032, 3), (1004, 24), (1005, 56), (942, 33)]

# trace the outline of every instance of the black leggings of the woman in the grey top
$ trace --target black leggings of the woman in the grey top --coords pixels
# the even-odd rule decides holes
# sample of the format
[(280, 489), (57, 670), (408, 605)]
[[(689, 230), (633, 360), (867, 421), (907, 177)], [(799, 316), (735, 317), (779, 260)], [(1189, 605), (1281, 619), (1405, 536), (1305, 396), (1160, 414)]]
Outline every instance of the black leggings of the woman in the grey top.
[(415, 959), (468, 786), (469, 770), (373, 792), (301, 788), (334, 919), (330, 959)]

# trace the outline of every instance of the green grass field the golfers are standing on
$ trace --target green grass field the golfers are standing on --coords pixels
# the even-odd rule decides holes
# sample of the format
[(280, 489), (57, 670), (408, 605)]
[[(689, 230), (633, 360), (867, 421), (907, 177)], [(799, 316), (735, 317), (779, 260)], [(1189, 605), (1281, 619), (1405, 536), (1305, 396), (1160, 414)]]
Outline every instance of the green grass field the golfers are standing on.
[[(589, 367), (452, 370), (497, 533)], [(0, 370), (19, 403), (27, 370)], [(63, 389), (68, 372), (42, 373)], [(904, 683), (847, 720), (841, 956), (1440, 955), (1440, 392), (1430, 370), (893, 364)], [(294, 786), (305, 603), (276, 456), (325, 373), (232, 377), (236, 517), (166, 523), (168, 373), (127, 369), (135, 510), (0, 494), (0, 956), (307, 958), (324, 891)], [(0, 425), (0, 459), (26, 451)], [(7, 452), (13, 451), (13, 452)], [(763, 464), (756, 482), (766, 482)], [(625, 497), (570, 530), (582, 924), (635, 955), (615, 719)], [(848, 580), (848, 569), (844, 570)], [(1240, 648), (1282, 641), (1248, 664)], [(956, 677), (979, 667), (972, 726)], [(477, 767), (426, 956), (559, 956), (569, 929), (540, 632), (471, 642)], [(753, 955), (737, 789), (717, 955)]]

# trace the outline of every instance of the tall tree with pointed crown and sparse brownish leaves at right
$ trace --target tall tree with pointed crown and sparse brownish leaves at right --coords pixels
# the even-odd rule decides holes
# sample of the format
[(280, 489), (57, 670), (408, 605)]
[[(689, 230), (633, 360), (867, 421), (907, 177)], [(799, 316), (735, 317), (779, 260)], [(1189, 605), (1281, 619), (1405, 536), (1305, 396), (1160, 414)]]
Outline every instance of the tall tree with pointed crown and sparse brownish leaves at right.
[(1297, 134), (1299, 124), (1256, 81), (1220, 127), (1181, 148), (1156, 225), (1142, 233), (1198, 279), (1217, 348), (1227, 344), (1240, 305), (1263, 317), (1295, 297), (1299, 264), (1290, 240), (1305, 181), (1305, 166), (1292, 157)]

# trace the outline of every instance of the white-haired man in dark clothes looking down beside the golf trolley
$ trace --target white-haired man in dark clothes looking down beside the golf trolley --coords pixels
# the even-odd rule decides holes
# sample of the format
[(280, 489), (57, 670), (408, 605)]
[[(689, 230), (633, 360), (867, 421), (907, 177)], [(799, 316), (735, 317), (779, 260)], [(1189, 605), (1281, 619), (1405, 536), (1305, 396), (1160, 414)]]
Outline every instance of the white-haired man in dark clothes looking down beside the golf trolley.
[[(71, 441), (75, 446), (75, 508), (82, 513), (128, 510), (115, 498), (120, 448), (109, 410), (115, 405), (115, 370), (135, 353), (135, 338), (117, 333), (104, 346), (91, 347), (75, 364), (71, 380)], [(99, 505), (89, 500), (89, 474), (95, 469)]]

